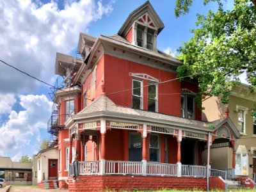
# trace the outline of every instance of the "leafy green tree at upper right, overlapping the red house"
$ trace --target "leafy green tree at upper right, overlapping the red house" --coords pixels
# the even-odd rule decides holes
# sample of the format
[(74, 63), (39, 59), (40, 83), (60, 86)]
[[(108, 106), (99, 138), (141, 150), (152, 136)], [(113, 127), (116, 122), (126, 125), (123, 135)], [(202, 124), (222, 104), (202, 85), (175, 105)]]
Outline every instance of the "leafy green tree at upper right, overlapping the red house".
[(234, 0), (233, 10), (219, 5), (215, 13), (198, 15), (193, 38), (179, 48), (184, 61), (177, 69), (179, 77), (198, 79), (199, 106), (203, 95), (220, 96), (221, 102), (228, 103), (244, 72), (251, 91), (256, 88), (256, 6), (252, 0)]

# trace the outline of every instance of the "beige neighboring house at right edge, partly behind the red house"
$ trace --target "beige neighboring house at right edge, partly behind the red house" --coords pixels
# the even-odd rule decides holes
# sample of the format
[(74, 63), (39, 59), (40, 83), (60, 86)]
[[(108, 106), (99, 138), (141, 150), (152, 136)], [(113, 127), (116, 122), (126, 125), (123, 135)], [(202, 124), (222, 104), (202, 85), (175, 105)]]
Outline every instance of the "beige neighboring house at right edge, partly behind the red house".
[[(232, 90), (227, 105), (221, 104), (218, 97), (208, 97), (203, 101), (202, 120), (212, 122), (225, 116), (228, 107), (228, 116), (237, 130), (241, 134), (241, 138), (236, 143), (236, 177), (250, 177), (256, 173), (256, 118), (251, 116), (253, 105), (256, 102), (256, 93), (250, 93), (249, 86), (240, 84)], [(232, 168), (232, 150), (223, 143), (216, 143), (211, 148), (211, 167), (216, 169)], [(224, 164), (220, 156), (228, 157), (230, 161)], [(216, 161), (216, 159), (219, 159)]]

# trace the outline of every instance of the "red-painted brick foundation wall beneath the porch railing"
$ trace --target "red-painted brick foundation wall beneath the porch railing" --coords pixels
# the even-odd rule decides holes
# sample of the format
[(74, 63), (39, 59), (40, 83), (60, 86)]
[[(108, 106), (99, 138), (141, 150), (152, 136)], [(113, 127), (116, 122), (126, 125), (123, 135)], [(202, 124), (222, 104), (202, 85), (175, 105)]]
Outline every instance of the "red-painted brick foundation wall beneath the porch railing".
[(150, 190), (150, 189), (206, 189), (206, 179), (177, 178), (177, 177), (143, 177), (143, 176), (79, 176), (76, 180), (68, 179), (68, 190), (75, 191), (103, 191), (112, 189), (122, 190)]

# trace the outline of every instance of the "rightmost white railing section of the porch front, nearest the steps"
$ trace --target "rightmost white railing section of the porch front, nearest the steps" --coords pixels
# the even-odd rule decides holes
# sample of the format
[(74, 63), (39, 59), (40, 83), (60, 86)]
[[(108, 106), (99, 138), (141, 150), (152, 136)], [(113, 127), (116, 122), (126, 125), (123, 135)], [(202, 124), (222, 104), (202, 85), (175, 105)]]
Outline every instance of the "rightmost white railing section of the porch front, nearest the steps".
[(182, 164), (181, 176), (182, 177), (206, 177), (207, 166)]

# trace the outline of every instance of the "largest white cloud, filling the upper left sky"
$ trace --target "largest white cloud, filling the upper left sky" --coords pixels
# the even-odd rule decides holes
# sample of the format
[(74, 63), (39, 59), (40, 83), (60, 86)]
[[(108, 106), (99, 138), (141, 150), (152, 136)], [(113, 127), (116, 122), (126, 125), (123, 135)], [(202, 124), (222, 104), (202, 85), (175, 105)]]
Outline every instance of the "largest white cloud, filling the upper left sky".
[[(0, 59), (44, 81), (52, 83), (56, 52), (76, 49), (79, 33), (112, 11), (96, 0), (65, 1), (63, 10), (51, 1), (0, 1)], [(2, 93), (29, 93), (38, 83), (0, 63)]]

